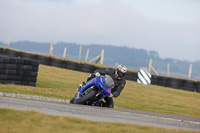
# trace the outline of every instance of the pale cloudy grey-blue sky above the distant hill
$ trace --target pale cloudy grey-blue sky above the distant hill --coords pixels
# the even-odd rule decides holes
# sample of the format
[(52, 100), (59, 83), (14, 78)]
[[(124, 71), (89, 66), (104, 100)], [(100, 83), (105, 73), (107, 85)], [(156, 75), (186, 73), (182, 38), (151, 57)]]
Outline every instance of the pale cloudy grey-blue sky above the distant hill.
[[(103, 44), (200, 61), (200, 0), (0, 0), (0, 41)], [(127, 55), (128, 57), (128, 55)]]

